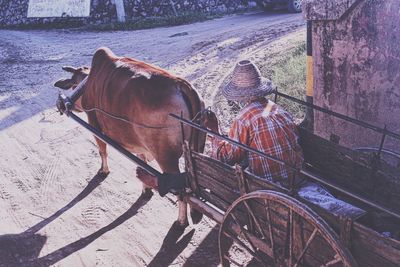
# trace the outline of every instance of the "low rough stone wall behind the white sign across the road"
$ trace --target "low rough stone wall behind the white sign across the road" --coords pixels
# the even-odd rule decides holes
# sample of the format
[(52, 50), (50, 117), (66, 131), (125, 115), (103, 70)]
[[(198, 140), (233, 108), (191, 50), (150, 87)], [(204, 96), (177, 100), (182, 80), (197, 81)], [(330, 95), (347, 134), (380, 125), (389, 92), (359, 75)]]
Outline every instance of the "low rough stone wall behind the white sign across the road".
[[(126, 19), (176, 13), (231, 12), (246, 8), (242, 0), (124, 0)], [(114, 0), (91, 0), (90, 16), (84, 18), (27, 18), (29, 0), (0, 0), (0, 26), (101, 24), (117, 21)], [(175, 10), (174, 10), (175, 9)]]

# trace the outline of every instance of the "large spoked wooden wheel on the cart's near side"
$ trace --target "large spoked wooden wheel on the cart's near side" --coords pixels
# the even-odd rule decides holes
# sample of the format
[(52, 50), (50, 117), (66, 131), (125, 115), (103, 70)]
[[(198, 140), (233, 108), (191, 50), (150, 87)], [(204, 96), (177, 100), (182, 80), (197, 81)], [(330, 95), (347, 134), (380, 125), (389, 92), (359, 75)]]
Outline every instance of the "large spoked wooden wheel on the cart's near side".
[(357, 266), (320, 216), (275, 191), (237, 199), (225, 213), (218, 241), (222, 266)]

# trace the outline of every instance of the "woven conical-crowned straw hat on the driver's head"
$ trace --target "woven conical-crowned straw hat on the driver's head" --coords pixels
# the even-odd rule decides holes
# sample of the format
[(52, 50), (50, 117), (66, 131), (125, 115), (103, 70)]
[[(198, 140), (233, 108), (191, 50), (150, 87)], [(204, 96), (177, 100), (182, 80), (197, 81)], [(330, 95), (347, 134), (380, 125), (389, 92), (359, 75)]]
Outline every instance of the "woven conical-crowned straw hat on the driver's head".
[(272, 82), (261, 76), (260, 70), (250, 60), (236, 64), (230, 81), (222, 89), (222, 94), (228, 100), (244, 101), (274, 92)]

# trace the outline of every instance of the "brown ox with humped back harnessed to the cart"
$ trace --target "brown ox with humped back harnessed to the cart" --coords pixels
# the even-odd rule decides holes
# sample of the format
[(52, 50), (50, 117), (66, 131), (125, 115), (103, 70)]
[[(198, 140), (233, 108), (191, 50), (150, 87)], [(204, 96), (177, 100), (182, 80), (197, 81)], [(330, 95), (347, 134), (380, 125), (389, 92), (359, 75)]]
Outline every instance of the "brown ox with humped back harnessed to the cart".
[[(63, 67), (63, 70), (72, 73), (72, 78), (54, 84), (61, 89), (75, 89), (88, 76), (74, 109), (86, 112), (91, 126), (140, 158), (155, 159), (164, 173), (179, 173), (182, 128), (168, 114), (183, 114), (184, 118), (193, 119), (204, 108), (204, 102), (187, 81), (147, 63), (117, 57), (108, 48), (96, 51), (91, 69)], [(202, 152), (205, 134), (188, 126), (184, 126), (183, 132), (192, 149)], [(99, 173), (107, 175), (106, 143), (95, 139), (101, 156)], [(200, 221), (198, 212), (191, 210), (191, 215), (194, 223)], [(183, 201), (179, 201), (178, 223), (187, 225)]]

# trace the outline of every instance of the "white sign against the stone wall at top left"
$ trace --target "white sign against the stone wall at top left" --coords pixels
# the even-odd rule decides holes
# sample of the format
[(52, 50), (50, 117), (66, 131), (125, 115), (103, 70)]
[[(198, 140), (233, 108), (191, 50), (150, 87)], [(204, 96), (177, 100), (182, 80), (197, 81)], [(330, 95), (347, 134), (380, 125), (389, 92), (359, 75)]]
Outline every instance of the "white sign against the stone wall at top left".
[(90, 0), (29, 0), (28, 18), (88, 17)]

